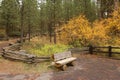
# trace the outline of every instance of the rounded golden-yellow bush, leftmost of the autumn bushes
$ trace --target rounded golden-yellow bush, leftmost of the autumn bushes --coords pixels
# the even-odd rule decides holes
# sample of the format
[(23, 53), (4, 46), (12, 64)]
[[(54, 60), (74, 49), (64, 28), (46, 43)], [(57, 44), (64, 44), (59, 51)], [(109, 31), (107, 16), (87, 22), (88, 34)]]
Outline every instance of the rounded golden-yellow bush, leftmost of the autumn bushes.
[(92, 30), (85, 16), (80, 15), (61, 26), (60, 36), (64, 43), (88, 45)]

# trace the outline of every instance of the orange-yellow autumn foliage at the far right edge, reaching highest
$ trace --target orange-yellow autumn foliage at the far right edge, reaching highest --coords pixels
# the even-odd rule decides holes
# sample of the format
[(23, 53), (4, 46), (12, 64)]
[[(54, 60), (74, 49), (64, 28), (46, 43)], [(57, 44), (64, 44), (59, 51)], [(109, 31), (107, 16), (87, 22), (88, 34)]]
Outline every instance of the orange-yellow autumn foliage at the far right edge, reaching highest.
[(112, 18), (107, 19), (106, 27), (109, 36), (120, 37), (120, 8), (113, 12)]

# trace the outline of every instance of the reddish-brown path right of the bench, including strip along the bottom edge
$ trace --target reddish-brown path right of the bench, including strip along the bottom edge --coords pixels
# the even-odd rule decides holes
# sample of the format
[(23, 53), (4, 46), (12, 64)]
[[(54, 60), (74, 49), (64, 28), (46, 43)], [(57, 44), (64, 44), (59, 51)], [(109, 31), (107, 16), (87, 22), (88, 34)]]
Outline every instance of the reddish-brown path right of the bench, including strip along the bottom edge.
[(66, 71), (42, 74), (0, 74), (0, 80), (120, 80), (120, 61), (81, 56)]

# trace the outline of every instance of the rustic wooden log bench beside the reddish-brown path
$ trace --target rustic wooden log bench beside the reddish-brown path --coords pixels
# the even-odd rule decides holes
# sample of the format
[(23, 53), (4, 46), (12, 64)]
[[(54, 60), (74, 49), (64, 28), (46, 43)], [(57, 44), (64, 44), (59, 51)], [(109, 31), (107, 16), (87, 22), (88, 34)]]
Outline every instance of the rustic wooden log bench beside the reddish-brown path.
[(71, 51), (67, 51), (54, 54), (53, 60), (54, 61), (52, 62), (52, 65), (62, 70), (66, 70), (68, 65), (74, 65), (74, 61), (76, 60), (76, 58), (72, 57)]

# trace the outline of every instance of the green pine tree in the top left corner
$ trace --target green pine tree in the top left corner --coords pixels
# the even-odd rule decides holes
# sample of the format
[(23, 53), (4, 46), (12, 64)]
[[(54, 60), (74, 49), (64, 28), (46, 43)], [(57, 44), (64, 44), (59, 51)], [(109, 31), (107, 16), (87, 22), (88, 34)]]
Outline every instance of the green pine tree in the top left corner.
[(18, 34), (19, 7), (18, 7), (16, 0), (3, 0), (2, 1), (1, 23), (6, 30), (7, 36)]

